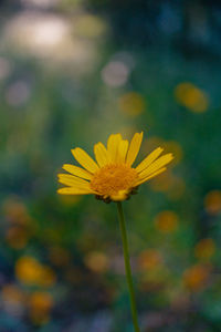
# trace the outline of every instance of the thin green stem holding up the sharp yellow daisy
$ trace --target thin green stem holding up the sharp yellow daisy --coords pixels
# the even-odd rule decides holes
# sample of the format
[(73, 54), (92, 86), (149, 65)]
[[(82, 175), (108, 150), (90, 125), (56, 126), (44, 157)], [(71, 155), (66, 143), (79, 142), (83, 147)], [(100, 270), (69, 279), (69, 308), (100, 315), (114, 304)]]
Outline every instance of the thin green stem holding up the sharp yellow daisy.
[(126, 224), (125, 224), (125, 217), (124, 217), (124, 211), (123, 211), (120, 201), (117, 201), (117, 210), (118, 210), (119, 225), (120, 225), (120, 231), (122, 231), (124, 260), (125, 260), (127, 284), (128, 284), (128, 289), (129, 289), (133, 323), (134, 323), (135, 332), (140, 332), (139, 325), (138, 325), (138, 319), (137, 319), (137, 309), (136, 309), (135, 292), (134, 292), (133, 279), (131, 279), (131, 269), (130, 269), (130, 263), (129, 263), (129, 250), (128, 250), (128, 242), (127, 242)]

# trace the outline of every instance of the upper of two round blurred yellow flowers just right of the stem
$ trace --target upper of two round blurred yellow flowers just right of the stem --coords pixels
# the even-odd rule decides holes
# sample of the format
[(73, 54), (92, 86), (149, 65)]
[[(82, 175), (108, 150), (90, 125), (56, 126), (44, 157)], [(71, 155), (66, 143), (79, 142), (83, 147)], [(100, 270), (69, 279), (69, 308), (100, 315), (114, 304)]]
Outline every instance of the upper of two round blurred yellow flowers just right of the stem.
[(173, 211), (161, 211), (155, 218), (155, 226), (161, 232), (172, 232), (178, 227), (178, 216)]

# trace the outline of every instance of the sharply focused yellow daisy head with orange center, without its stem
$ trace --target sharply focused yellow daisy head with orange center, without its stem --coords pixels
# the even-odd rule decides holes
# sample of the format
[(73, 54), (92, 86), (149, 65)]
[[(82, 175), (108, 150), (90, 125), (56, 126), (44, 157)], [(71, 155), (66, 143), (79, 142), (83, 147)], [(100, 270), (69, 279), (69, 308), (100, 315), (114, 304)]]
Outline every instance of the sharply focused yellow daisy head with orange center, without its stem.
[[(172, 154), (161, 157), (161, 147), (150, 153), (137, 167), (131, 167), (140, 148), (143, 133), (136, 133), (130, 142), (120, 134), (110, 135), (107, 148), (99, 142), (94, 145), (96, 163), (82, 148), (72, 149), (75, 159), (84, 168), (64, 164), (69, 174), (59, 174), (59, 181), (67, 187), (60, 188), (59, 194), (94, 194), (105, 201), (120, 201), (136, 191), (143, 183), (166, 170)], [(159, 158), (158, 158), (159, 157)]]

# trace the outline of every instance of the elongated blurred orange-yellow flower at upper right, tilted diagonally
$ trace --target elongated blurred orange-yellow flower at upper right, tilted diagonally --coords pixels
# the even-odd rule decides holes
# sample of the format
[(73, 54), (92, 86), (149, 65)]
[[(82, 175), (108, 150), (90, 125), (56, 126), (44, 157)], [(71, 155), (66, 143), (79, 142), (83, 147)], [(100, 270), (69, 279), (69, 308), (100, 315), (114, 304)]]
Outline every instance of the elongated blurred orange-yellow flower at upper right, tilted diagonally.
[(175, 89), (177, 101), (192, 112), (206, 112), (209, 106), (207, 94), (192, 83), (183, 82)]

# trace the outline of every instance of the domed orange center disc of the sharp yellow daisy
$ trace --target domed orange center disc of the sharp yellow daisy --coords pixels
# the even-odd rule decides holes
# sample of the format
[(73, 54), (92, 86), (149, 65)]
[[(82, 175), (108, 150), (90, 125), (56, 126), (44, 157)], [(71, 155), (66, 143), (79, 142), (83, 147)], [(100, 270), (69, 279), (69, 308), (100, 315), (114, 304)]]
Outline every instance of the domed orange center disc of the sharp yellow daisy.
[(116, 195), (133, 188), (137, 176), (137, 172), (126, 164), (109, 164), (94, 174), (91, 188), (102, 196)]

